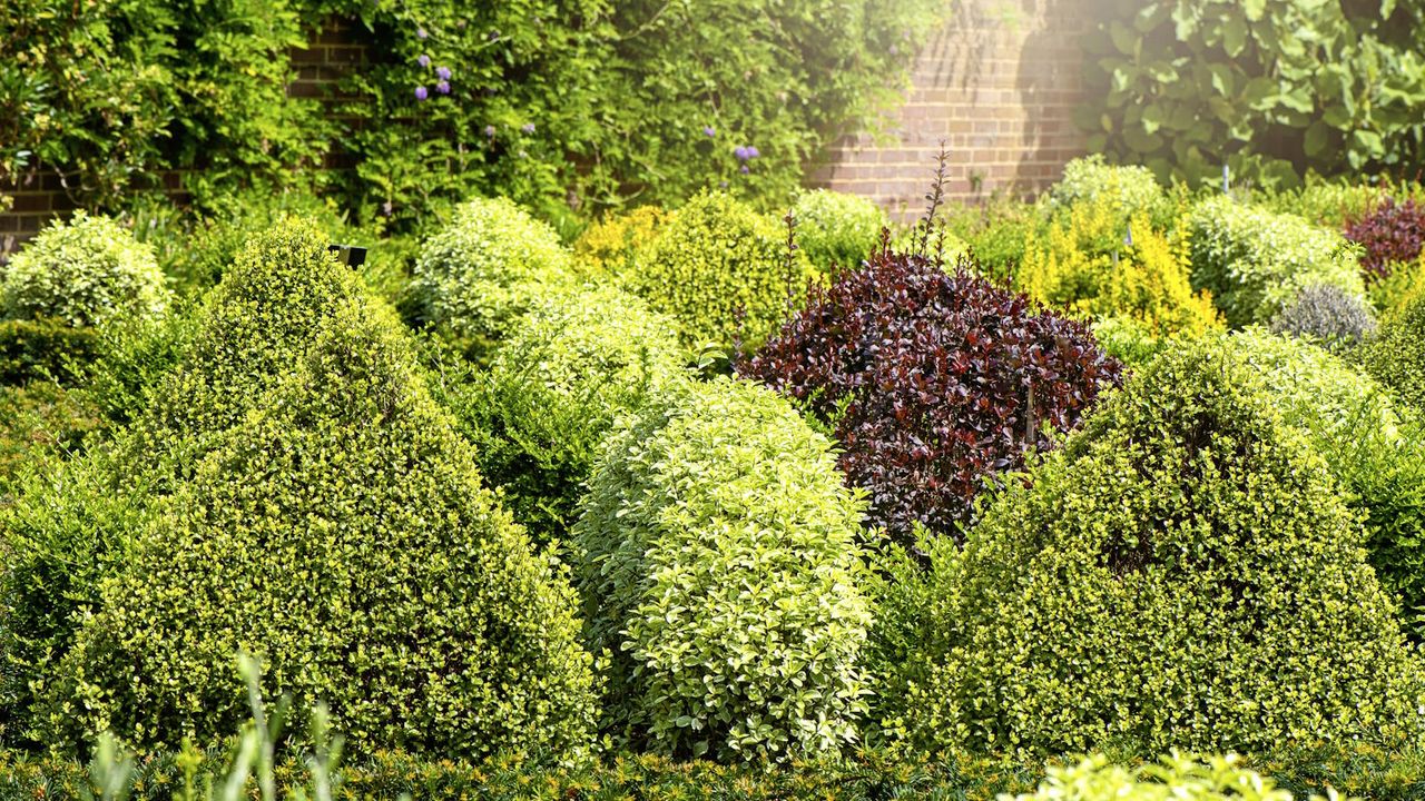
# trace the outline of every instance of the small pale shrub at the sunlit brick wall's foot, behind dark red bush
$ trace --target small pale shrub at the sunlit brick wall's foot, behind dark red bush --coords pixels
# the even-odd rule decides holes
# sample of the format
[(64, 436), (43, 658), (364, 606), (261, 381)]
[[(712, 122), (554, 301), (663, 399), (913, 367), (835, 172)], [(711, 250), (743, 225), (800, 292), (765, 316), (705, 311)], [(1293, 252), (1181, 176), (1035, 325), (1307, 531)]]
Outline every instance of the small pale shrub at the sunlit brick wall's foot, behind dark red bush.
[(886, 212), (869, 200), (831, 190), (801, 192), (792, 215), (797, 247), (824, 274), (859, 267), (891, 225)]

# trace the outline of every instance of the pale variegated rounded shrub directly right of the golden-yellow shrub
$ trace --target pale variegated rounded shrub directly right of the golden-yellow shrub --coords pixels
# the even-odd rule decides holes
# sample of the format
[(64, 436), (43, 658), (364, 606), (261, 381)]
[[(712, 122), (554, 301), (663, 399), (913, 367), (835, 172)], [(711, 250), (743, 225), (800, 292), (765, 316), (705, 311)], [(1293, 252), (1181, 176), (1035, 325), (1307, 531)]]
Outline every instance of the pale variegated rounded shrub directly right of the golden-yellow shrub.
[(1300, 217), (1216, 195), (1193, 208), (1188, 227), (1193, 285), (1213, 292), (1234, 328), (1267, 324), (1307, 286), (1365, 295), (1351, 244)]

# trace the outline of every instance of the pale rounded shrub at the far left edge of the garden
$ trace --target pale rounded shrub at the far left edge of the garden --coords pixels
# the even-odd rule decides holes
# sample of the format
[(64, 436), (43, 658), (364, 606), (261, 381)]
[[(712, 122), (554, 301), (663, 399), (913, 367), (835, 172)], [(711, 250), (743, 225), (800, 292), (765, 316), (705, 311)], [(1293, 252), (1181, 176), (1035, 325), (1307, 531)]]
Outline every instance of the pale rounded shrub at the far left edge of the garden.
[(0, 269), (0, 316), (60, 318), (76, 328), (114, 318), (151, 321), (170, 294), (154, 249), (107, 217), (74, 212)]

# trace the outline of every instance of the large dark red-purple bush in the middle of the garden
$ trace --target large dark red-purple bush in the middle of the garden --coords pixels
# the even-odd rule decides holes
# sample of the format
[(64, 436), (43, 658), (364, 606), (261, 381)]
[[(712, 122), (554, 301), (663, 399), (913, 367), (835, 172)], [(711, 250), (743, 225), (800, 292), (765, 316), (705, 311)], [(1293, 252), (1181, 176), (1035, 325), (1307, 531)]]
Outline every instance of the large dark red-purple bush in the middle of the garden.
[(1123, 365), (1082, 324), (963, 267), (881, 252), (814, 286), (738, 373), (832, 426), (841, 467), (871, 495), (868, 524), (962, 539), (986, 479), (1076, 426)]

